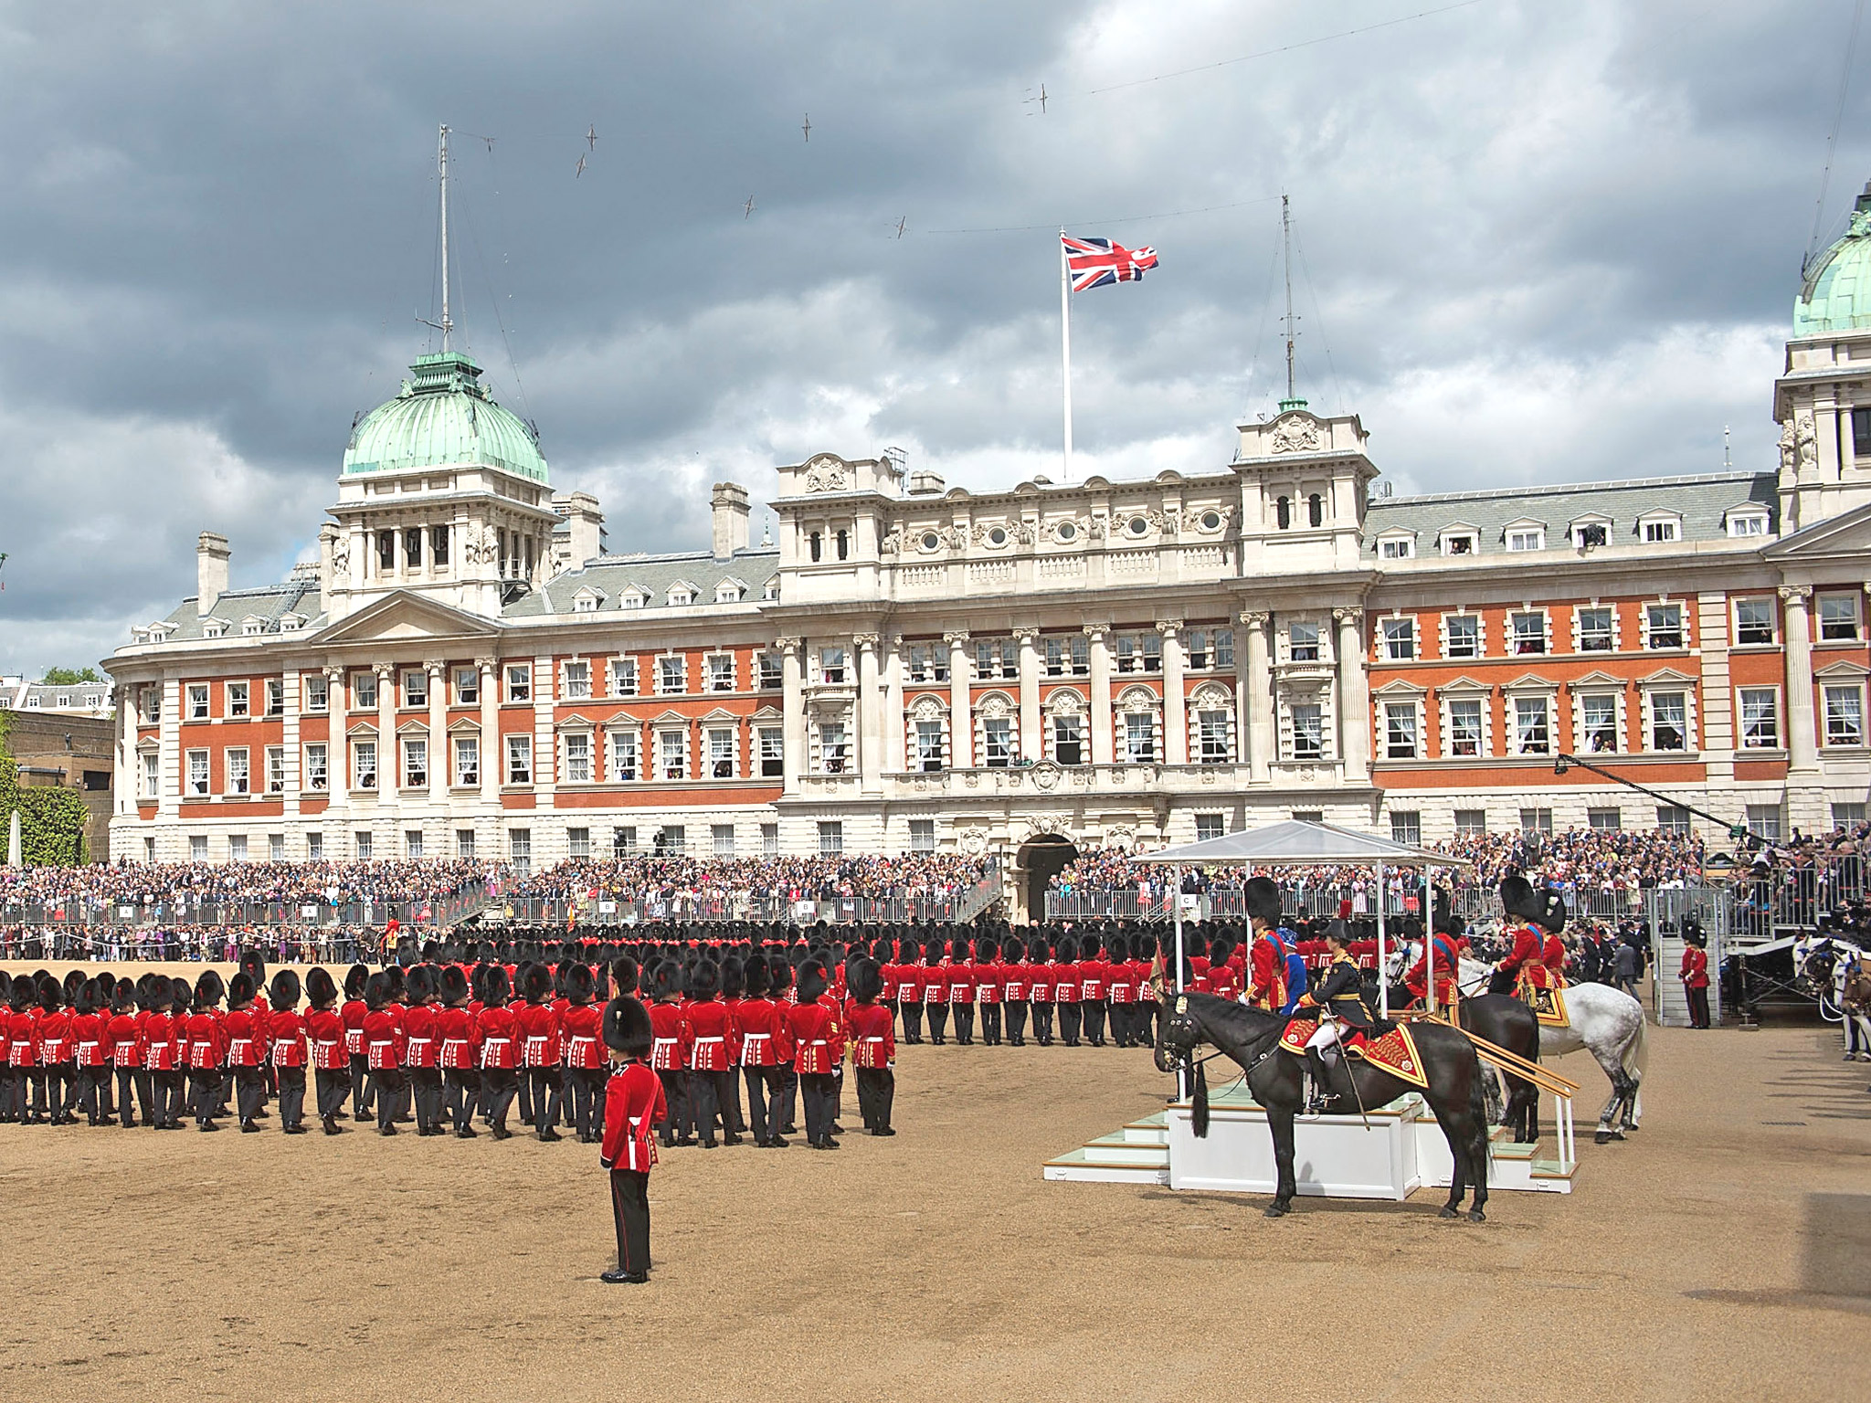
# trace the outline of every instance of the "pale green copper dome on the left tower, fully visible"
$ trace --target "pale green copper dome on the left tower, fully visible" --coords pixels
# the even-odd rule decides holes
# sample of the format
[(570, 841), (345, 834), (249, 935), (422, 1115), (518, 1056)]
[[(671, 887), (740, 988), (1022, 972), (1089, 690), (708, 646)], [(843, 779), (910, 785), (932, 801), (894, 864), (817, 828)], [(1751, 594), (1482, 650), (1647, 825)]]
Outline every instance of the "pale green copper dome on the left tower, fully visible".
[(546, 481), (539, 440), (518, 417), (494, 404), (481, 367), (458, 352), (419, 355), (410, 380), (352, 428), (344, 477), (485, 462)]

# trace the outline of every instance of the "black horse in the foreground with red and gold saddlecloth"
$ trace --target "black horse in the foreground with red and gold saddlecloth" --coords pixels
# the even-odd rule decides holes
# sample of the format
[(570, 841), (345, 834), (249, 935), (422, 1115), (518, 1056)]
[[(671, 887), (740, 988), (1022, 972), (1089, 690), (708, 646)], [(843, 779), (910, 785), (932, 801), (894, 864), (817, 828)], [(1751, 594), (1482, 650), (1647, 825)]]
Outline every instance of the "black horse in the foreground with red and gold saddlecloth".
[[(1282, 1014), (1216, 999), (1212, 993), (1166, 993), (1156, 1034), (1160, 1072), (1188, 1066), (1203, 1042), (1220, 1048), (1246, 1072), (1248, 1091), (1267, 1111), (1280, 1171), (1274, 1201), (1267, 1207), (1269, 1218), (1291, 1212), (1293, 1193), (1298, 1188), (1293, 1177), (1293, 1117), (1304, 1100), (1304, 1059), (1280, 1051), (1280, 1033), (1285, 1025)], [(1413, 1034), (1429, 1081), (1424, 1100), (1435, 1111), (1435, 1122), (1443, 1128), (1456, 1164), (1441, 1216), (1454, 1218), (1472, 1186), (1474, 1207), (1469, 1208), (1469, 1220), (1478, 1223), (1487, 1205), (1487, 1107), (1482, 1102), (1482, 1063), (1474, 1055), (1474, 1044), (1452, 1027), (1418, 1023)], [(1398, 1096), (1416, 1091), (1407, 1081), (1351, 1057), (1336, 1059), (1327, 1081), (1325, 1091), (1340, 1111), (1349, 1111), (1353, 1106), (1388, 1106)], [(1209, 1081), (1199, 1064), (1192, 1113), (1196, 1134), (1205, 1137)]]

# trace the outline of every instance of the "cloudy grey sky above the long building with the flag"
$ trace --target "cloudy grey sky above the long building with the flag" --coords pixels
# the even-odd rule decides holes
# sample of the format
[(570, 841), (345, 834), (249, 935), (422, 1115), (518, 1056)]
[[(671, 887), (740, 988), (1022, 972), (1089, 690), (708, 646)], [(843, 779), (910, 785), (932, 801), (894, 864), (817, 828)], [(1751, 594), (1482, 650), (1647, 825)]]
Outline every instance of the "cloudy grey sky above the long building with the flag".
[(1057, 475), (1061, 223), (1162, 256), (1076, 301), (1078, 471), (1226, 462), (1284, 391), (1282, 191), (1300, 393), (1400, 492), (1725, 425), (1766, 466), (1871, 176), (1854, 80), (1819, 206), (1852, 7), (0, 2), (0, 672), (167, 614), (200, 529), (236, 586), (311, 554), (432, 335), (442, 122), (462, 339), (616, 550), (819, 449)]

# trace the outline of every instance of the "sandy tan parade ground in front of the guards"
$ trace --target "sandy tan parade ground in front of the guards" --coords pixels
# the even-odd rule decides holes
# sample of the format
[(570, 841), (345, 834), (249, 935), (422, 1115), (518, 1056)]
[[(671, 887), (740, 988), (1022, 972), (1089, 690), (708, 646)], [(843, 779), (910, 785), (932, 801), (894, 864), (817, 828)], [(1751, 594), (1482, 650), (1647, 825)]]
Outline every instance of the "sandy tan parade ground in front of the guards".
[(1439, 1192), (1267, 1222), (1048, 1184), (1042, 1160), (1162, 1106), (1147, 1053), (907, 1048), (894, 1139), (670, 1152), (645, 1287), (597, 1280), (610, 1205), (576, 1141), (0, 1126), (0, 1392), (1850, 1396), (1871, 1066), (1817, 1027), (1650, 1046), (1643, 1132), (1587, 1137), (1572, 1197), (1499, 1193), (1484, 1225), (1439, 1222)]

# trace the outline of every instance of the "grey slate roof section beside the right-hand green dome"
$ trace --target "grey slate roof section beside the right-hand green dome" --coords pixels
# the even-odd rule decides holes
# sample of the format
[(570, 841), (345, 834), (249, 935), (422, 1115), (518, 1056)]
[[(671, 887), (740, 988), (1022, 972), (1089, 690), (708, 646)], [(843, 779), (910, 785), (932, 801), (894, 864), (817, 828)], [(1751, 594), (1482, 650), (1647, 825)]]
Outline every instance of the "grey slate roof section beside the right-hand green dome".
[(1776, 475), (1755, 471), (1701, 473), (1695, 477), (1639, 477), (1618, 483), (1562, 483), (1555, 486), (1514, 486), (1493, 492), (1429, 492), (1414, 498), (1371, 498), (1364, 514), (1364, 554), (1377, 556), (1377, 537), (1386, 531), (1414, 531), (1416, 554), (1433, 556), (1435, 537), (1446, 526), (1474, 526), (1474, 554), (1504, 556), (1508, 522), (1545, 524), (1549, 550), (1564, 548), (1566, 528), (1581, 516), (1609, 516), (1605, 544), (1635, 546), (1637, 518), (1654, 511), (1682, 516), (1682, 541), (1727, 539), (1727, 511), (1755, 503), (1768, 511), (1768, 535), (1777, 529)]

